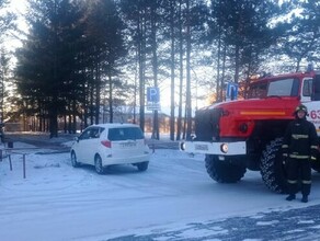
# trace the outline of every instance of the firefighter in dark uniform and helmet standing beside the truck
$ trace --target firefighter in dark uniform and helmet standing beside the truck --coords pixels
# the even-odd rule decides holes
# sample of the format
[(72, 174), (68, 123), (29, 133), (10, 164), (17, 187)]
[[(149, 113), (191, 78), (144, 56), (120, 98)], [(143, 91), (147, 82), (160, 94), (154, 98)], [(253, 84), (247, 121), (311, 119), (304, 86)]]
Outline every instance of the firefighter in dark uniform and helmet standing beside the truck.
[(287, 171), (287, 200), (296, 198), (300, 180), (302, 203), (308, 203), (311, 190), (311, 162), (317, 160), (318, 136), (316, 127), (308, 122), (308, 110), (300, 104), (296, 107), (294, 119), (287, 127), (282, 146)]

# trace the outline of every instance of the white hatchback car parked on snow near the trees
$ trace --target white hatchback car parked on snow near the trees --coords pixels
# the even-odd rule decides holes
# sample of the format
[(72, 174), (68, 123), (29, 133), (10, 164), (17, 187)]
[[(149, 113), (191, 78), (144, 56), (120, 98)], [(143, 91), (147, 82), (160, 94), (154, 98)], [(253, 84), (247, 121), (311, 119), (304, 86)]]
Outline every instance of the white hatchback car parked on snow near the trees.
[(100, 124), (89, 126), (71, 147), (71, 164), (95, 167), (103, 174), (112, 164), (134, 164), (139, 171), (148, 169), (150, 149), (142, 130), (134, 124)]

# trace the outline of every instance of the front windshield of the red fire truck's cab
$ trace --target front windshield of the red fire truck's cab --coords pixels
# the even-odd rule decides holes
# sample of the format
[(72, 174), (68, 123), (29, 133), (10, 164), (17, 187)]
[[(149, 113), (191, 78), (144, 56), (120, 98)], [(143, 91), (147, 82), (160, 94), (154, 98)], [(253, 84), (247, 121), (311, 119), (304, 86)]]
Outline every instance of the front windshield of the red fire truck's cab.
[(282, 79), (268, 83), (266, 96), (297, 96), (298, 91), (297, 79)]

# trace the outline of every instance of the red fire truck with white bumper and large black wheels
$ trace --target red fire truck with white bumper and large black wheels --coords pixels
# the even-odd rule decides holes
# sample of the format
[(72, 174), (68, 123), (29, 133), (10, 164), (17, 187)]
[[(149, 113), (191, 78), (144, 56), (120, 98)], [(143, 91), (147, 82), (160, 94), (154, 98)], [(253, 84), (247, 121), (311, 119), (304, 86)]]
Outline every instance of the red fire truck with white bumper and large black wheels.
[[(266, 76), (252, 82), (244, 100), (216, 103), (196, 112), (195, 136), (180, 149), (205, 154), (209, 176), (219, 183), (240, 181), (247, 170), (260, 171), (267, 188), (286, 193), (281, 146), (298, 104), (320, 136), (320, 72)], [(320, 171), (320, 154), (312, 164)]]

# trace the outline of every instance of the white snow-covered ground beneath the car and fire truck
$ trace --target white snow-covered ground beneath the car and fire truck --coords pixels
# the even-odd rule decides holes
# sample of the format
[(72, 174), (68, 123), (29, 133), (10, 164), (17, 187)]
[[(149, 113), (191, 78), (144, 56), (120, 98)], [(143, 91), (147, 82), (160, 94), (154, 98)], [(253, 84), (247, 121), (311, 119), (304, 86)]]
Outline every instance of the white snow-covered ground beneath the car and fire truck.
[(247, 172), (238, 184), (215, 183), (202, 154), (156, 150), (146, 172), (118, 165), (98, 175), (91, 167), (73, 169), (69, 153), (48, 151), (14, 144), (12, 171), (9, 158), (0, 162), (0, 240), (107, 240), (320, 204), (318, 173), (302, 204), (299, 195), (289, 203), (266, 190), (259, 172)]

